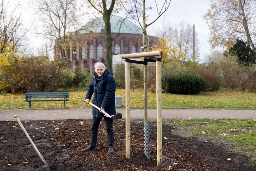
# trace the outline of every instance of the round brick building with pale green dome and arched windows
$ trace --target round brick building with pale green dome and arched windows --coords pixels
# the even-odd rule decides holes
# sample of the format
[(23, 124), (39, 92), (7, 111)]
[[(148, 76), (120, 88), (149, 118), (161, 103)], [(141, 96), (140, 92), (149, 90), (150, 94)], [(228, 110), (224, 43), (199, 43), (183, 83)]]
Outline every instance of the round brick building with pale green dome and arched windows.
[[(112, 59), (113, 65), (122, 61), (121, 55), (118, 54), (143, 52), (143, 31), (139, 26), (116, 15), (111, 16), (110, 22), (113, 38), (112, 53), (115, 54)], [(70, 37), (68, 57), (71, 69), (75, 66), (80, 69), (90, 68), (91, 73), (94, 73), (96, 62), (105, 63), (104, 32), (105, 23), (103, 17), (100, 17), (90, 21)], [(158, 38), (154, 36), (148, 36), (147, 40), (148, 48), (158, 43)], [(60, 58), (57, 47), (54, 46), (54, 60)]]

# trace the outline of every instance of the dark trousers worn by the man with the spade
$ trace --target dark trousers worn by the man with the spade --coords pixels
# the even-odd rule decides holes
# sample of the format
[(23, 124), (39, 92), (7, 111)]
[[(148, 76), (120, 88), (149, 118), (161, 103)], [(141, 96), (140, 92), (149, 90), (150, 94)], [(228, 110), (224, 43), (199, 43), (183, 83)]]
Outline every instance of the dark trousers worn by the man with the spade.
[[(100, 125), (101, 119), (102, 117), (96, 118), (95, 116), (93, 116), (92, 118), (90, 145), (93, 148), (96, 147), (97, 138), (98, 138), (98, 127)], [(104, 116), (104, 120), (106, 123), (107, 134), (108, 134), (108, 146), (114, 147), (113, 119)]]

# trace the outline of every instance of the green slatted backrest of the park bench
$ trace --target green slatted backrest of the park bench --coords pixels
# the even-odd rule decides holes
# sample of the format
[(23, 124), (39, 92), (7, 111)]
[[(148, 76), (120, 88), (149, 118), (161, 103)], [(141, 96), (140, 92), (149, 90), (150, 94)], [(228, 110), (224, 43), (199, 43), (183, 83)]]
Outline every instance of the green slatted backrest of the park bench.
[(69, 92), (32, 92), (25, 93), (26, 99), (28, 98), (66, 98), (69, 97)]

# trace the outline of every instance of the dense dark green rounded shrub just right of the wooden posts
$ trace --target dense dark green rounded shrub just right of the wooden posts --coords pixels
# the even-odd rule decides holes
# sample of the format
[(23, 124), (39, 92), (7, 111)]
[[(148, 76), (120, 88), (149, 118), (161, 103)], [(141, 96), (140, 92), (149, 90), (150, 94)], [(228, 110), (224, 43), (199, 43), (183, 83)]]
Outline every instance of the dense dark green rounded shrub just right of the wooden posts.
[(198, 94), (206, 86), (206, 80), (200, 75), (190, 73), (178, 73), (164, 75), (162, 78), (162, 86), (169, 93), (175, 94)]

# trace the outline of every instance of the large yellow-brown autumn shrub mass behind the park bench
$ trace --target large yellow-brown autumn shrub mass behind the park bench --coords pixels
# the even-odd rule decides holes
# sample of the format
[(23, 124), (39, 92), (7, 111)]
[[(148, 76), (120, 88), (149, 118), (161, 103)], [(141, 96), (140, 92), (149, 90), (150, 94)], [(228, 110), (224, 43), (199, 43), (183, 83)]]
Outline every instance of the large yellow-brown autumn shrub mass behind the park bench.
[(0, 87), (7, 92), (56, 91), (67, 76), (62, 62), (50, 62), (47, 57), (10, 58), (1, 68)]

